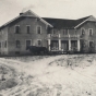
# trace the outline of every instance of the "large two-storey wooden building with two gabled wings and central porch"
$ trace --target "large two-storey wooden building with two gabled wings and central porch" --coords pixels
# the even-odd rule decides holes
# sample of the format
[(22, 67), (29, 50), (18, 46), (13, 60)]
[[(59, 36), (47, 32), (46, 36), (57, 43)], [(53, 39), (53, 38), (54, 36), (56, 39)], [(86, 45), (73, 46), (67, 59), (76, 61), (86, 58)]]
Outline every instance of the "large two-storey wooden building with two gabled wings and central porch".
[(43, 46), (49, 51), (96, 51), (96, 19), (39, 17), (31, 10), (0, 27), (0, 53), (26, 55), (27, 46)]

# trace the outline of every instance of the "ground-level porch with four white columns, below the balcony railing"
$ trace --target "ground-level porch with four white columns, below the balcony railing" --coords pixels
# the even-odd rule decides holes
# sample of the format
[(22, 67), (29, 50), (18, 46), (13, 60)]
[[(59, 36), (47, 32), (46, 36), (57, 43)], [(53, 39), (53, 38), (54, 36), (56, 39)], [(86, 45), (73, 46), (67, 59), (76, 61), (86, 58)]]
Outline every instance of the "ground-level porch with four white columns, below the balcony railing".
[(48, 39), (49, 51), (80, 51), (80, 39)]

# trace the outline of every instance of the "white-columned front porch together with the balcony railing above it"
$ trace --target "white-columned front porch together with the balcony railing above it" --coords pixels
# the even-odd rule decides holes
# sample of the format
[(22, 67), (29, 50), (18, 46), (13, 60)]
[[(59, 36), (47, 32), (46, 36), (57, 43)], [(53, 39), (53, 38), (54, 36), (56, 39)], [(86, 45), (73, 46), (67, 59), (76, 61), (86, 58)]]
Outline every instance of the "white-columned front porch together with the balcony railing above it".
[(80, 51), (80, 35), (48, 34), (49, 51)]

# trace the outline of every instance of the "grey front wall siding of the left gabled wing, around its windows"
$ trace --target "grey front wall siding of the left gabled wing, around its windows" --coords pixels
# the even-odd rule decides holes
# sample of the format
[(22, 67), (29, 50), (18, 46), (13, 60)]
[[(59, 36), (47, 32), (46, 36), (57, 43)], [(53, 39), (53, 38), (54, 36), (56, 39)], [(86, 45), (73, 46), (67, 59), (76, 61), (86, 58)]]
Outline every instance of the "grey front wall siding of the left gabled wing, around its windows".
[[(21, 33), (15, 34), (15, 25), (20, 25)], [(31, 25), (31, 33), (26, 33), (26, 25)], [(41, 26), (41, 34), (38, 35), (36, 32), (36, 26)], [(15, 51), (20, 51), (21, 53), (27, 53), (25, 41), (31, 39), (32, 45), (37, 46), (37, 39), (41, 39), (43, 46), (46, 47), (46, 37), (47, 37), (47, 29), (46, 25), (37, 21), (37, 19), (26, 17), (22, 21), (15, 22), (14, 24), (10, 25), (9, 27), (9, 36), (8, 36), (8, 44), (9, 44), (9, 52), (15, 53)], [(21, 40), (21, 48), (15, 48), (15, 40)]]

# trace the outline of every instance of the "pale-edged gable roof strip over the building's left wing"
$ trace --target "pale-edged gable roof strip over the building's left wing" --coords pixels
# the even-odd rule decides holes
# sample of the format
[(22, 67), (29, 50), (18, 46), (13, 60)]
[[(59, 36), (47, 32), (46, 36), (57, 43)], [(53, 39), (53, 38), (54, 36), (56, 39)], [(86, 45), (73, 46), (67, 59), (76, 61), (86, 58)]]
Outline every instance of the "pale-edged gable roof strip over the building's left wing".
[(46, 22), (45, 20), (43, 20), (40, 16), (38, 16), (37, 14), (35, 14), (34, 12), (32, 12), (31, 10), (26, 11), (25, 13), (22, 13), (21, 15), (16, 16), (15, 19), (7, 22), (5, 24), (3, 24), (2, 26), (0, 26), (0, 28), (3, 28), (4, 26), (9, 25), (10, 23), (19, 20), (20, 17), (24, 17), (24, 16), (31, 16), (31, 17), (37, 17), (43, 23), (49, 25), (50, 27), (52, 27), (51, 24), (49, 24), (48, 22)]

